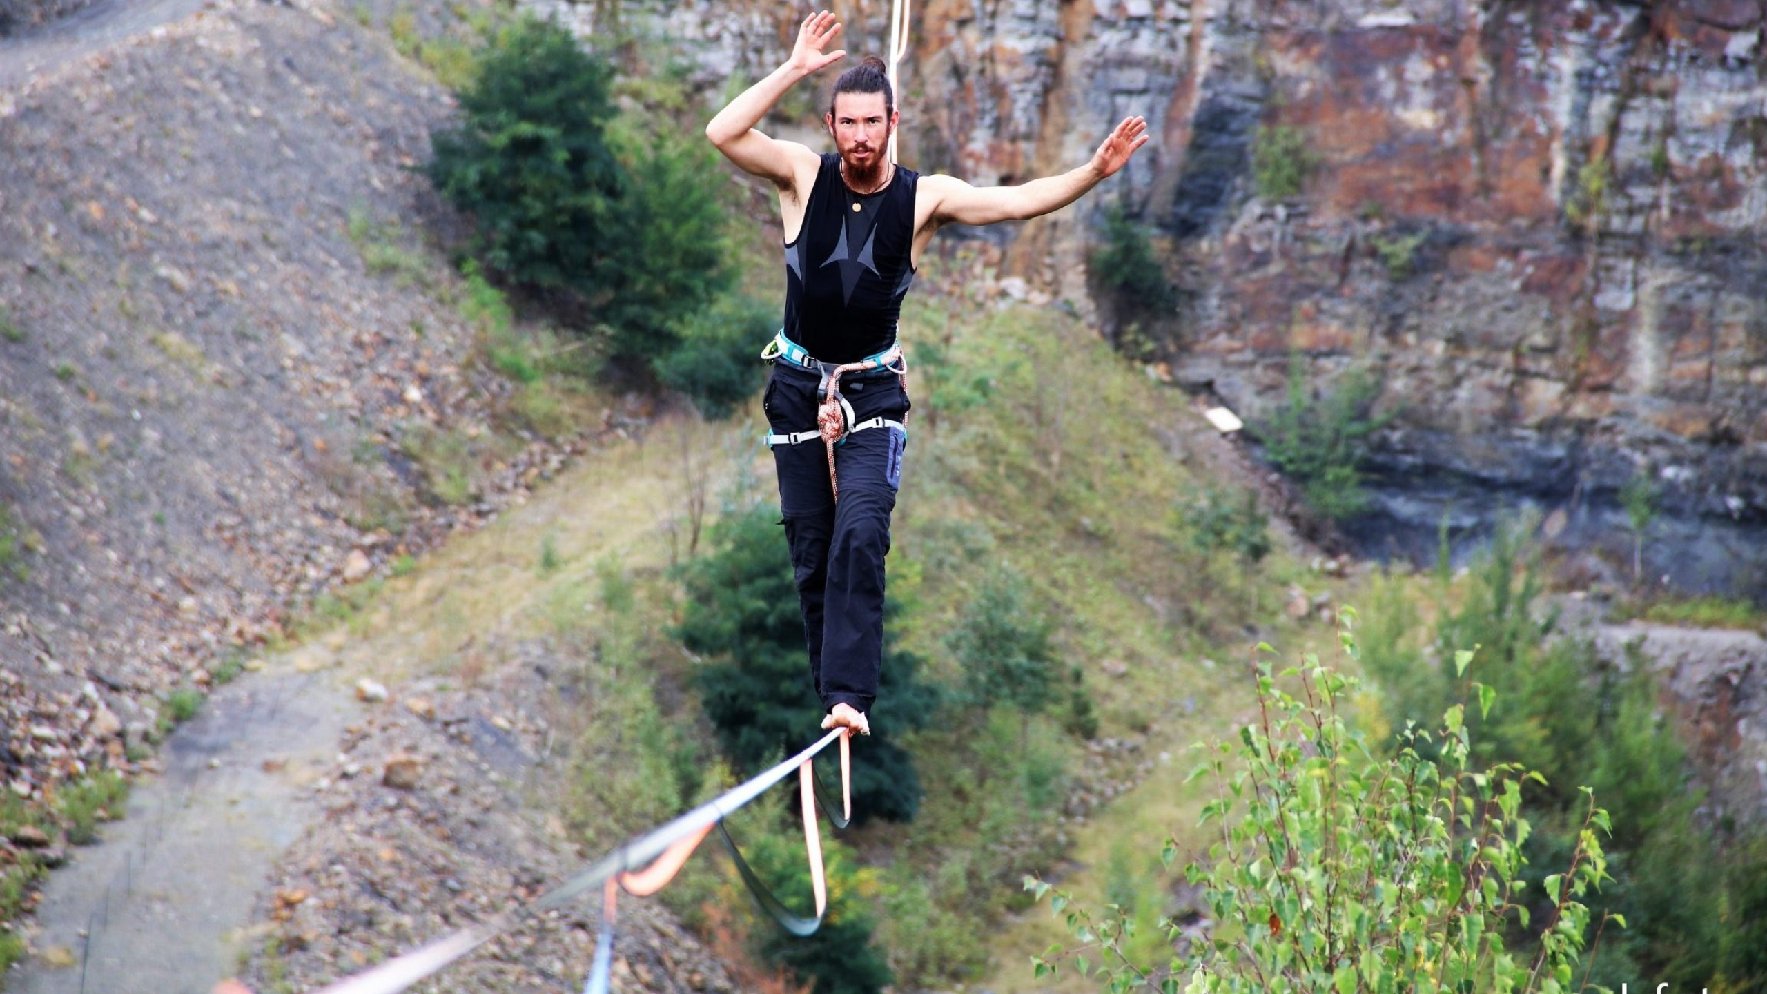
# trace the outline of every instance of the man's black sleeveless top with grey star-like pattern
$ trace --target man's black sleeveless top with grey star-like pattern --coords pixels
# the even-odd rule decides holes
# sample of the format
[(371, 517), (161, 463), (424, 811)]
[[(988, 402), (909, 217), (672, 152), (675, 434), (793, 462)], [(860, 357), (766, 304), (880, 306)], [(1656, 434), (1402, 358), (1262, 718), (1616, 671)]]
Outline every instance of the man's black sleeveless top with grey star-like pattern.
[[(896, 341), (901, 299), (914, 283), (914, 187), (896, 166), (864, 196), (841, 179), (841, 156), (822, 156), (804, 226), (785, 246), (785, 334), (823, 363), (853, 363)], [(857, 205), (857, 210), (855, 210)]]

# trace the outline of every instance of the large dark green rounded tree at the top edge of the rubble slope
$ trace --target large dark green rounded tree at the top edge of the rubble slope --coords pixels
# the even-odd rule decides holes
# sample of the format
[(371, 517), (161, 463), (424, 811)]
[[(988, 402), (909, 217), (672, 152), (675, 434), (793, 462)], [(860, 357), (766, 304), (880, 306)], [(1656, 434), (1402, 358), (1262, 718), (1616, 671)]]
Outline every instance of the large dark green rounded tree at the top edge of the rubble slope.
[(626, 251), (626, 177), (606, 138), (610, 69), (571, 32), (523, 18), (497, 32), (433, 134), (428, 173), (477, 223), (484, 260), (519, 283), (594, 294)]

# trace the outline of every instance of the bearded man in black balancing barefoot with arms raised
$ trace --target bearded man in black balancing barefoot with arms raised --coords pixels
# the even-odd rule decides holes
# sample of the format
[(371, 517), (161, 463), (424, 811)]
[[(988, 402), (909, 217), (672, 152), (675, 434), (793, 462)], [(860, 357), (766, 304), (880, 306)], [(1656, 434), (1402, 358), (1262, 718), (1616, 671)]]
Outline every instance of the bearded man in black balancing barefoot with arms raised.
[[(834, 154), (756, 131), (788, 88), (846, 55), (823, 51), (839, 30), (827, 11), (804, 18), (792, 58), (721, 110), (705, 134), (779, 187), (786, 304), (767, 352), (776, 359), (763, 401), (769, 444), (811, 679), (827, 709), (822, 727), (869, 734), (884, 658), (884, 555), (910, 407), (896, 318), (921, 253), (944, 225), (1023, 221), (1073, 203), (1147, 143), (1147, 122), (1126, 119), (1078, 170), (979, 189), (889, 161), (899, 113), (884, 62), (866, 58), (834, 83), (823, 119)], [(827, 446), (800, 444), (816, 440)]]

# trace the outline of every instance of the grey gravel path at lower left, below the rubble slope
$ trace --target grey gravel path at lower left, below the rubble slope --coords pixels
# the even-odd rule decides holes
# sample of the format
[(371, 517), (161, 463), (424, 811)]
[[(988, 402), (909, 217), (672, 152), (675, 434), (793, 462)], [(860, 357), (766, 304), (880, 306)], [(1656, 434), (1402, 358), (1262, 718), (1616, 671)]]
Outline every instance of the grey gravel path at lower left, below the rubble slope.
[[(263, 879), (320, 815), (302, 787), (360, 709), (332, 692), (337, 679), (284, 663), (214, 693), (161, 752), (166, 775), (134, 789), (127, 819), (49, 877), (34, 944), (64, 952), (28, 960), (7, 989), (207, 994), (233, 973)], [(46, 966), (57, 960), (72, 966)]]

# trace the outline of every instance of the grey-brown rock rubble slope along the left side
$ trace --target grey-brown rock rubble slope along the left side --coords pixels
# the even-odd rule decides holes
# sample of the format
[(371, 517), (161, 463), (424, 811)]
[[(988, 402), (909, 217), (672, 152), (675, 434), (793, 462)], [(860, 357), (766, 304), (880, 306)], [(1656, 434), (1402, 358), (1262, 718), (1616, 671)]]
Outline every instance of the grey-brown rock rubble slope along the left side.
[[(57, 730), (14, 789), (122, 764), (168, 688), (557, 465), (472, 449), (507, 386), (412, 172), (451, 108), (353, 19), (246, 2), (0, 88), (0, 706)], [(479, 460), (463, 504), (419, 501), (426, 437)]]

